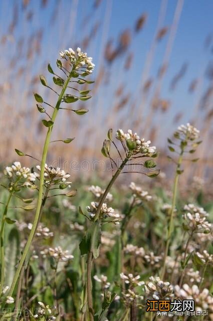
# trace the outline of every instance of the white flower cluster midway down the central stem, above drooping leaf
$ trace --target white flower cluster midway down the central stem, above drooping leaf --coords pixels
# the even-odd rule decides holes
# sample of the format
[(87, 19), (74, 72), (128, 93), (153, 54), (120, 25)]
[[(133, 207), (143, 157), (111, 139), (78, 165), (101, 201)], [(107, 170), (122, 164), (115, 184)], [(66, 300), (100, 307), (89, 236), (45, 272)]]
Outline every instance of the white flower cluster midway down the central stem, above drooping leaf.
[[(90, 213), (90, 217), (93, 218), (98, 208), (98, 202), (91, 202), (90, 206), (87, 206), (87, 211)], [(100, 212), (100, 218), (105, 219), (111, 217), (114, 224), (119, 224), (120, 214), (115, 213), (115, 210), (111, 207), (107, 207), (106, 203), (103, 203)]]

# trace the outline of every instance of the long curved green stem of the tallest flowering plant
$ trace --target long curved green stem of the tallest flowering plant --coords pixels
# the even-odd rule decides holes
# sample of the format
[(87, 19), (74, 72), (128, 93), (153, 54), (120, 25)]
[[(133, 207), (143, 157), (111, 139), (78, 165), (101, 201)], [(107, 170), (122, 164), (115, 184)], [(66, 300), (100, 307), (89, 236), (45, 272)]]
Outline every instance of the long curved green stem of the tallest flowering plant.
[[(72, 69), (72, 71), (73, 71), (73, 69)], [(54, 108), (54, 112), (53, 112), (53, 115), (51, 117), (51, 120), (53, 122), (55, 121), (56, 116), (58, 114), (58, 111), (59, 111), (59, 108), (60, 108), (60, 105), (61, 105), (61, 102), (62, 102), (62, 98), (64, 96), (64, 93), (65, 93), (66, 89), (67, 89), (69, 81), (71, 79), (72, 71), (70, 72), (67, 80), (64, 83), (63, 89), (61, 91), (61, 94), (59, 95), (58, 101), (57, 101), (56, 106)], [(43, 154), (42, 154), (42, 162), (41, 162), (39, 195), (38, 195), (36, 214), (35, 214), (32, 230), (30, 232), (28, 241), (27, 241), (27, 243), (25, 245), (24, 252), (23, 252), (22, 257), (20, 259), (19, 265), (18, 265), (17, 270), (16, 270), (16, 274), (15, 274), (15, 276), (13, 278), (13, 282), (12, 282), (12, 285), (11, 285), (11, 288), (10, 288), (10, 291), (9, 291), (9, 295), (11, 295), (11, 296), (12, 296), (13, 291), (15, 289), (15, 286), (16, 286), (17, 280), (19, 278), (22, 266), (23, 266), (23, 264), (25, 262), (25, 258), (27, 256), (28, 251), (30, 249), (30, 246), (32, 244), (32, 241), (33, 241), (33, 238), (34, 238), (34, 235), (35, 235), (35, 232), (36, 232), (37, 224), (38, 224), (38, 221), (39, 221), (39, 217), (40, 217), (40, 210), (41, 210), (41, 207), (42, 207), (42, 197), (43, 197), (44, 171), (45, 171), (46, 158), (47, 158), (48, 147), (49, 147), (49, 143), (50, 143), (50, 137), (51, 137), (52, 130), (53, 130), (53, 126), (48, 128), (46, 139), (45, 139), (45, 144), (44, 144), (44, 149), (43, 149)]]

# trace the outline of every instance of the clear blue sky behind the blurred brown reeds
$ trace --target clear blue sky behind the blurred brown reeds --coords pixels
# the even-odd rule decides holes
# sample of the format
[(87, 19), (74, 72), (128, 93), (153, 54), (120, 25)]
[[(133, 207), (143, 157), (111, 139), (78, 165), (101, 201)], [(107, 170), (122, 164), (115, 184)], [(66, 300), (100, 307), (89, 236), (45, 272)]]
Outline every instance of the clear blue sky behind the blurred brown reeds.
[[(163, 0), (166, 3), (166, 0)], [(160, 0), (102, 0), (100, 6), (94, 10), (94, 1), (90, 0), (49, 0), (45, 7), (41, 6), (40, 0), (31, 0), (29, 5), (23, 11), (21, 0), (3, 0), (0, 2), (0, 34), (7, 34), (8, 26), (13, 17), (14, 6), (17, 5), (18, 23), (13, 33), (13, 40), (9, 38), (7, 44), (3, 48), (3, 56), (5, 60), (10, 57), (16, 57), (17, 44), (21, 37), (26, 39), (24, 48), (28, 47), (28, 40), (39, 29), (44, 31), (42, 38), (42, 50), (40, 55), (33, 57), (33, 64), (29, 66), (34, 74), (40, 73), (44, 69), (44, 63), (47, 61), (55, 63), (57, 53), (67, 47), (74, 47), (81, 43), (81, 40), (87, 35), (95, 22), (101, 23), (100, 30), (90, 45), (86, 49), (90, 56), (93, 56), (94, 62), (97, 65), (94, 77), (97, 76), (97, 71), (102, 64), (105, 68), (111, 70), (110, 83), (99, 90), (100, 94), (105, 94), (107, 99), (102, 101), (105, 110), (111, 108), (113, 103), (113, 94), (119, 83), (125, 82), (127, 91), (132, 97), (139, 97), (140, 93), (135, 92), (138, 87), (138, 82), (144, 67), (146, 55), (151, 46), (151, 42), (156, 29), (160, 7)], [(53, 23), (51, 17), (54, 8), (58, 4), (58, 16)], [(107, 8), (109, 10), (112, 4), (112, 10), (109, 13), (110, 19), (106, 19)], [(165, 12), (165, 18), (162, 26), (170, 27), (173, 21), (176, 0), (168, 0)], [(33, 19), (27, 21), (27, 14), (33, 12)], [(111, 66), (109, 66), (103, 58), (104, 45), (109, 39), (116, 43), (119, 34), (124, 29), (134, 29), (135, 21), (142, 13), (147, 14), (147, 21), (142, 31), (132, 37), (131, 45), (125, 55), (130, 52), (134, 54), (134, 60), (131, 69), (128, 72), (123, 72), (122, 66), (126, 56), (120, 56)], [(211, 41), (210, 48), (204, 50), (203, 44), (206, 36), (212, 33), (212, 13), (213, 1), (195, 1), (185, 0), (180, 16), (180, 21), (177, 28), (174, 44), (172, 47), (171, 57), (169, 60), (169, 68), (163, 79), (161, 88), (162, 98), (172, 101), (172, 108), (168, 112), (167, 120), (171, 120), (177, 111), (184, 111), (184, 121), (188, 121), (193, 116), (193, 105), (196, 102), (196, 95), (188, 93), (188, 86), (192, 79), (200, 76), (208, 62), (212, 60), (213, 42)], [(87, 23), (84, 22), (85, 17), (89, 17)], [(105, 24), (105, 25), (104, 25)], [(105, 40), (103, 42), (104, 28)], [(133, 34), (133, 32), (132, 32)], [(93, 37), (92, 37), (93, 38)], [(162, 58), (165, 53), (165, 46), (168, 41), (168, 34), (158, 44), (150, 70), (150, 77), (155, 78), (158, 69), (162, 63)], [(83, 48), (84, 50), (84, 48)], [(102, 53), (101, 53), (102, 50)], [(169, 90), (170, 82), (174, 75), (180, 70), (183, 63), (188, 63), (187, 71), (177, 84), (174, 91)], [(20, 58), (18, 66), (25, 64), (25, 56)], [(13, 78), (13, 72), (9, 73), (8, 77)], [(2, 79), (0, 78), (2, 81)], [(203, 90), (208, 85), (207, 80), (203, 80)], [(94, 116), (98, 110), (98, 102), (100, 98), (98, 94), (93, 100), (95, 104), (91, 115)], [(147, 105), (147, 111), (148, 111)], [(147, 112), (146, 111), (146, 112)], [(104, 121), (104, 113), (102, 115)]]

